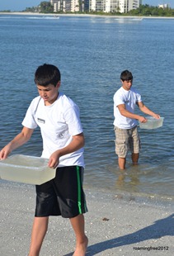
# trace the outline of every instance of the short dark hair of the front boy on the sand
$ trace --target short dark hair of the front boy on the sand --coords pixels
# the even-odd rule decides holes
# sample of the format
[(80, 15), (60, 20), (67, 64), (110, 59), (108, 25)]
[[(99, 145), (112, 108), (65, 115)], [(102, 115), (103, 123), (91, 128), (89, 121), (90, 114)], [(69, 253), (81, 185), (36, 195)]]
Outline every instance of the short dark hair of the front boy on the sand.
[(53, 84), (54, 87), (60, 81), (61, 75), (59, 69), (51, 64), (43, 64), (35, 71), (35, 84), (48, 86)]

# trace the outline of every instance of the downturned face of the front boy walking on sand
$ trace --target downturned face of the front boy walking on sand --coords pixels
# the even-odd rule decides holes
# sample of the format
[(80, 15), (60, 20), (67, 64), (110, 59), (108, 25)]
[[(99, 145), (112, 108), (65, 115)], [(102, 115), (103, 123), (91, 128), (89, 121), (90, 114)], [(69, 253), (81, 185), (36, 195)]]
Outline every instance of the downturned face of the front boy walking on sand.
[(40, 94), (40, 97), (43, 98), (46, 106), (49, 106), (56, 101), (59, 95), (59, 87), (60, 81), (59, 83), (57, 83), (56, 87), (54, 87), (53, 84), (49, 84), (48, 86), (42, 86), (37, 84), (37, 89)]

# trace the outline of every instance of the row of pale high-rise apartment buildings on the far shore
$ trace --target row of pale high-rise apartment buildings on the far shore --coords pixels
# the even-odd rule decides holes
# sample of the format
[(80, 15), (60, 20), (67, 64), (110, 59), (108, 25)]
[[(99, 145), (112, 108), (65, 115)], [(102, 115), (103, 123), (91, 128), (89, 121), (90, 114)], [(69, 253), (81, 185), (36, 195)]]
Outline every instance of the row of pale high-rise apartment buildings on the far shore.
[(121, 12), (136, 9), (142, 0), (50, 0), (54, 12)]

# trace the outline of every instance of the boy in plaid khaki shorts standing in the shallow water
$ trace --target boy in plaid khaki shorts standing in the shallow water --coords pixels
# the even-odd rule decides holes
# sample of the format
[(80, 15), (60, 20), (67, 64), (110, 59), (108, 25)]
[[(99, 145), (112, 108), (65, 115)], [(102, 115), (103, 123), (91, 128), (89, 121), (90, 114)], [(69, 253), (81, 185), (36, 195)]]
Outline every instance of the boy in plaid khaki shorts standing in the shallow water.
[(146, 107), (139, 92), (132, 88), (133, 75), (129, 70), (120, 74), (122, 87), (114, 95), (114, 126), (115, 126), (115, 153), (118, 155), (120, 169), (125, 169), (128, 150), (132, 153), (133, 164), (138, 164), (140, 140), (137, 130), (138, 121), (146, 122), (143, 116), (134, 114), (136, 105), (143, 113), (160, 118), (160, 116)]

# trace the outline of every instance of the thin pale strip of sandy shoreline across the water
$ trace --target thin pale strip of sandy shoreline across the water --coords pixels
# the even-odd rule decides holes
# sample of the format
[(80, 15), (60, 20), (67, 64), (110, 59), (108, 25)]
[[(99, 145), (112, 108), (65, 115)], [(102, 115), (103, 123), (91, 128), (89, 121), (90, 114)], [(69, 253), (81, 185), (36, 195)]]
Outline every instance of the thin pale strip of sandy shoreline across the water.
[(40, 13), (40, 12), (0, 12), (0, 15), (32, 15), (32, 16), (56, 16), (56, 17), (110, 17), (110, 18), (139, 18), (139, 19), (174, 19), (174, 17), (154, 17), (154, 16), (110, 16), (110, 15), (96, 15), (96, 14), (59, 14), (59, 13)]

